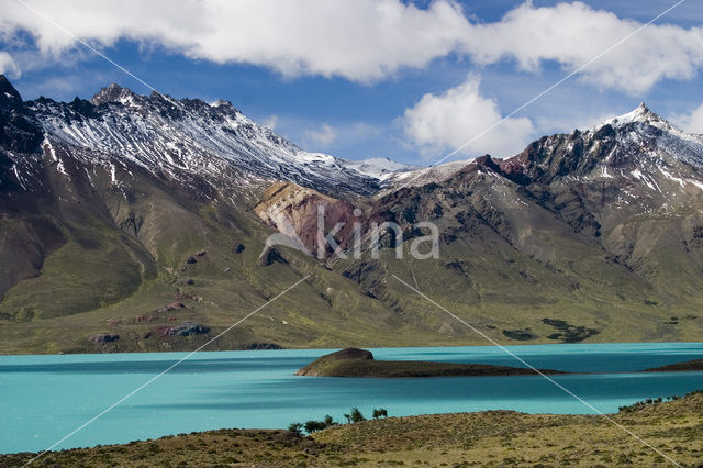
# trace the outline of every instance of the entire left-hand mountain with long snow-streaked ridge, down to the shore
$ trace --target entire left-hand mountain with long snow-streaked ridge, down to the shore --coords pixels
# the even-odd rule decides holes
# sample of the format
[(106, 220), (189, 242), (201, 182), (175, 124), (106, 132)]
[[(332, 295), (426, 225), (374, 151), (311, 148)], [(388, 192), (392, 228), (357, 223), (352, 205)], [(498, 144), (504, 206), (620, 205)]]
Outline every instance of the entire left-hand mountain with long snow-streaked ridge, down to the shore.
[(390, 315), (358, 289), (333, 301), (349, 281), (302, 254), (261, 257), (253, 211), (278, 180), (358, 200), (378, 160), (303, 152), (226, 102), (0, 91), (0, 352), (191, 348), (308, 274), (215, 346), (334, 345), (359, 336), (341, 323)]

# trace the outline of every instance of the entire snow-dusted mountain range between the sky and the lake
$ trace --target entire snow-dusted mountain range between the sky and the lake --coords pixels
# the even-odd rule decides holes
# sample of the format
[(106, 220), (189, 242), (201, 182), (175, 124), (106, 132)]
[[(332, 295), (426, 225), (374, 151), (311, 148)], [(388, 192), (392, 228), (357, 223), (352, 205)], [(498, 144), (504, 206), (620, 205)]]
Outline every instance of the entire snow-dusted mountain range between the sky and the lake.
[[(703, 335), (703, 137), (644, 105), (425, 169), (116, 85), (23, 101), (0, 77), (0, 353), (194, 348), (306, 275), (212, 347), (482, 344), (392, 275), (505, 343)], [(398, 223), (404, 257), (389, 231), (319, 248), (322, 209), (347, 249)], [(423, 221), (439, 258), (409, 255)]]

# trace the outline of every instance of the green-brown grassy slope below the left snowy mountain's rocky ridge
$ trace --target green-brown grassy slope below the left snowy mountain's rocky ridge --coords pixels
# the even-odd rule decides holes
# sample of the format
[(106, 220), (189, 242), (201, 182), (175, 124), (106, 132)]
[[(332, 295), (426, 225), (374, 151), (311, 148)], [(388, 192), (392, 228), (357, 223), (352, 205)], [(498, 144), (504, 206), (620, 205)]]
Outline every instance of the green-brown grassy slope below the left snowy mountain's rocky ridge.
[[(211, 349), (253, 342), (330, 346), (382, 336), (393, 322), (383, 304), (294, 252), (286, 254), (289, 264), (260, 265), (270, 230), (246, 212), (244, 200), (196, 202), (178, 191), (140, 185), (138, 178), (126, 194), (103, 197), (114, 222), (86, 222), (75, 204), (55, 210), (64, 215), (66, 242), (47, 256), (38, 276), (14, 286), (0, 302), (0, 353), (191, 349), (209, 336), (141, 336), (185, 321), (205, 324), (212, 336), (309, 274), (308, 282)], [(131, 216), (143, 220), (132, 235)], [(246, 249), (235, 254), (236, 243)], [(186, 263), (201, 250), (207, 255), (197, 264)], [(194, 285), (183, 285), (186, 279)], [(154, 312), (174, 301), (187, 309)], [(149, 321), (137, 322), (140, 316)], [(378, 319), (383, 322), (375, 323)], [(88, 338), (99, 333), (116, 333), (121, 339), (90, 344)]]

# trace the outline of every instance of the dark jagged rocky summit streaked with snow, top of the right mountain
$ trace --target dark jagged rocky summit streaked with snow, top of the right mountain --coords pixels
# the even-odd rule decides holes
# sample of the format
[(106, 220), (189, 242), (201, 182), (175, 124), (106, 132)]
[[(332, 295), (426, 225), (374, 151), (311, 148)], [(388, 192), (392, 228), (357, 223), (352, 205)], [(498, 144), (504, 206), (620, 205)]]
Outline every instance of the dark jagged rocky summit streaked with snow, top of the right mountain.
[(644, 104), (585, 132), (545, 136), (498, 164), (521, 185), (579, 193), (605, 229), (628, 215), (703, 198), (703, 137), (676, 129)]

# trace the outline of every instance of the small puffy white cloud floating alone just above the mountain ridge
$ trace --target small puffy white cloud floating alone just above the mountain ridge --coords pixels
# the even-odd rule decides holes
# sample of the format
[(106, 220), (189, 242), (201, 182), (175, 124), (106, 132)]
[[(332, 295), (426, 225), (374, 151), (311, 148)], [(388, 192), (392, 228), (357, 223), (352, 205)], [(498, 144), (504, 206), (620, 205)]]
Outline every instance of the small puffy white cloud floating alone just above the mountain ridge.
[[(443, 94), (427, 93), (401, 118), (405, 135), (429, 158), (439, 152), (454, 151), (484, 133), (502, 116), (498, 103), (480, 93), (481, 80), (469, 75), (467, 80)], [(506, 119), (490, 132), (461, 149), (478, 156), (489, 153), (496, 157), (513, 156), (525, 148), (534, 127), (529, 119)]]

